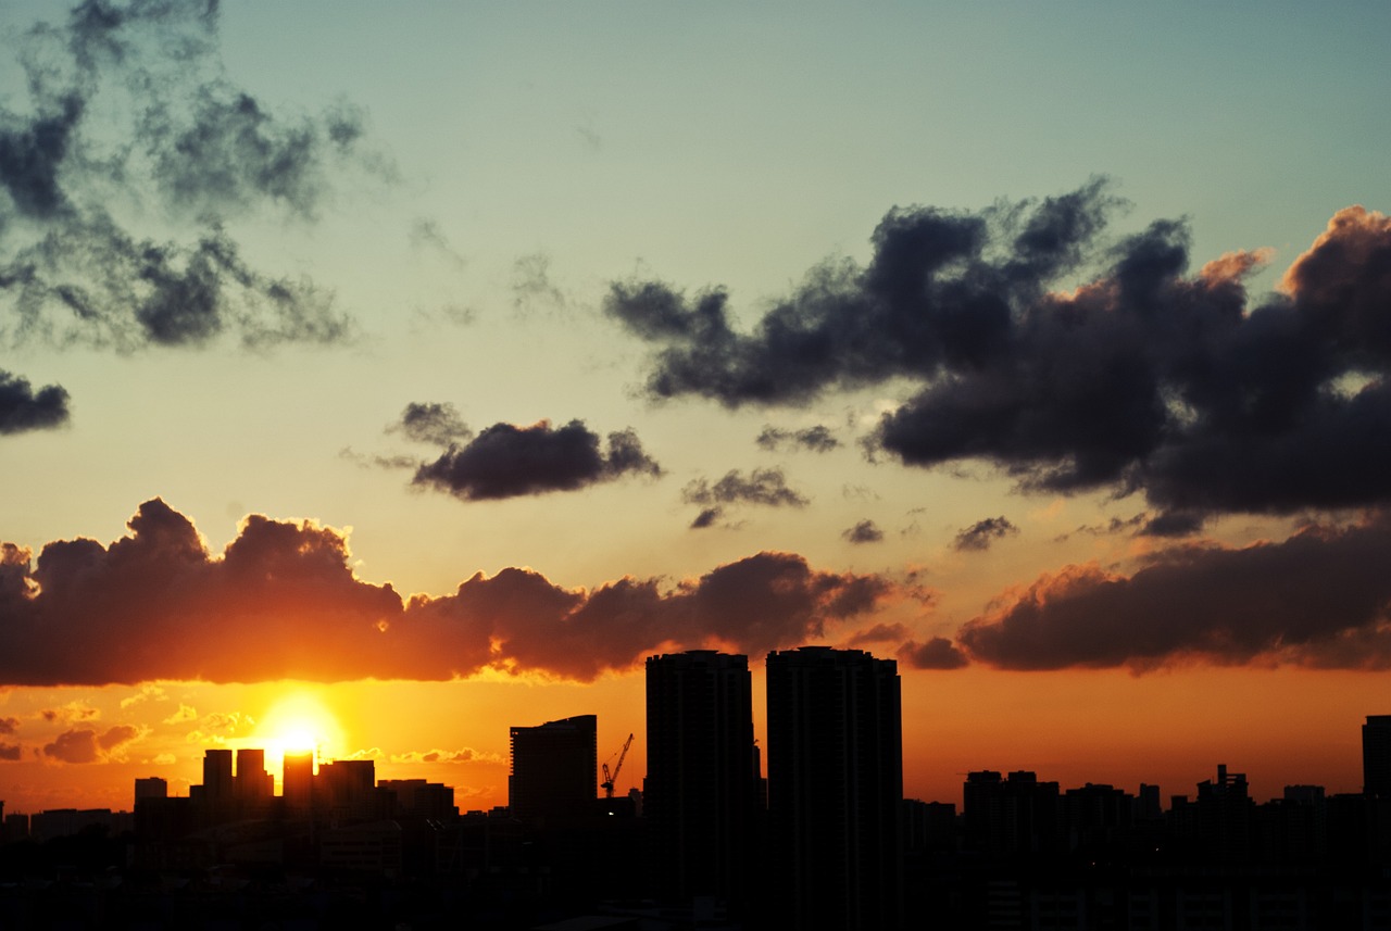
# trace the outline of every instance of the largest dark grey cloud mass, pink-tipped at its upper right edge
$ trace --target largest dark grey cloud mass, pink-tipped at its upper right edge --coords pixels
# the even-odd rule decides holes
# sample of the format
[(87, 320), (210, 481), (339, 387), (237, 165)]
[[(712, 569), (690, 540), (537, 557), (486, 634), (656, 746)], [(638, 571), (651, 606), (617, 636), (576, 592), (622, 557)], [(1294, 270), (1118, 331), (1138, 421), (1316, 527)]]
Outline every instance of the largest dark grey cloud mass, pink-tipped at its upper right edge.
[(1340, 211), (1253, 302), (1244, 281), (1269, 253), (1189, 274), (1184, 222), (1107, 242), (1117, 203), (1093, 181), (976, 213), (894, 208), (865, 267), (814, 268), (748, 332), (719, 288), (616, 282), (605, 310), (657, 345), (654, 397), (800, 404), (915, 384), (871, 438), (911, 466), (1142, 491), (1185, 516), (1170, 528), (1391, 500), (1391, 221)]

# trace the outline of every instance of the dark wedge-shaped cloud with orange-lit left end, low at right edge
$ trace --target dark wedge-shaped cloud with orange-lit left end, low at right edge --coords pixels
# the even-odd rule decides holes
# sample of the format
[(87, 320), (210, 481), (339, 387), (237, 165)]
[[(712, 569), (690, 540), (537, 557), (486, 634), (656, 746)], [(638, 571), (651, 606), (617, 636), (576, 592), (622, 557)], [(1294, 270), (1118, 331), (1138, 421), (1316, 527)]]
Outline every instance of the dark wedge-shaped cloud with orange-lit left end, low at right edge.
[(1391, 667), (1391, 516), (1244, 549), (1164, 550), (1132, 575), (1072, 566), (957, 632), (1004, 668), (1252, 660)]

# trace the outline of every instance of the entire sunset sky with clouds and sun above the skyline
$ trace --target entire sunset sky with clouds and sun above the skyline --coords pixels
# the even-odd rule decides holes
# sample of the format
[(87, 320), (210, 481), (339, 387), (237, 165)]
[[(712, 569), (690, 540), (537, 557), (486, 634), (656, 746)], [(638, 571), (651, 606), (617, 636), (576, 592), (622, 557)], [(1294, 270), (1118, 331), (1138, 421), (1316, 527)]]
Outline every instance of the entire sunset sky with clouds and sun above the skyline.
[[(643, 661), (896, 659), (904, 791), (1360, 789), (1380, 3), (0, 7), (0, 799), (506, 803)], [(278, 773), (277, 773), (278, 775)]]

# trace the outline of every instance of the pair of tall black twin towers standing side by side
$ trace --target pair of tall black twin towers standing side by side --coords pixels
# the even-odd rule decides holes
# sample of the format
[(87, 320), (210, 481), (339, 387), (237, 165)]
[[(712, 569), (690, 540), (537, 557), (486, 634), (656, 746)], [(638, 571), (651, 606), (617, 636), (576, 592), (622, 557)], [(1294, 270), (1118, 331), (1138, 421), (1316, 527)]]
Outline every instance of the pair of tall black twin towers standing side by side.
[(748, 657), (647, 660), (647, 818), (655, 892), (790, 928), (892, 928), (901, 914), (901, 702), (893, 660), (768, 654), (768, 781)]

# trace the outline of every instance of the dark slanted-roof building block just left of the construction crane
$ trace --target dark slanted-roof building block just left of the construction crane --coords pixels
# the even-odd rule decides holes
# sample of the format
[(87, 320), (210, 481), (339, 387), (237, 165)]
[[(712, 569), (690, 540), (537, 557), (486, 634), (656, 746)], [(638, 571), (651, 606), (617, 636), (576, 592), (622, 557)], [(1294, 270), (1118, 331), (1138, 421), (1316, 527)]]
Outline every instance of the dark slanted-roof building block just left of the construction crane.
[(591, 814), (600, 793), (597, 730), (593, 714), (510, 728), (512, 814), (551, 821)]

